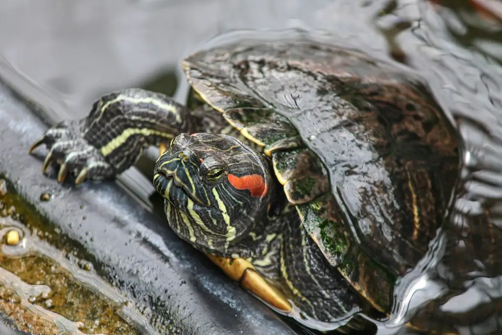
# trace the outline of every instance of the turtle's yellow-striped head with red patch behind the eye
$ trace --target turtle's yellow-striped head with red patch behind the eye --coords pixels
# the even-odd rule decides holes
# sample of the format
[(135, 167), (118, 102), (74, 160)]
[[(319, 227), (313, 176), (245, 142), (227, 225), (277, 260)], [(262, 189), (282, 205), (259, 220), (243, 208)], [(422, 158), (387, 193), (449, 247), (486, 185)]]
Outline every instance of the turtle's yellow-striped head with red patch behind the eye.
[(273, 177), (260, 153), (226, 135), (180, 134), (155, 164), (171, 228), (196, 248), (228, 257), (267, 213)]

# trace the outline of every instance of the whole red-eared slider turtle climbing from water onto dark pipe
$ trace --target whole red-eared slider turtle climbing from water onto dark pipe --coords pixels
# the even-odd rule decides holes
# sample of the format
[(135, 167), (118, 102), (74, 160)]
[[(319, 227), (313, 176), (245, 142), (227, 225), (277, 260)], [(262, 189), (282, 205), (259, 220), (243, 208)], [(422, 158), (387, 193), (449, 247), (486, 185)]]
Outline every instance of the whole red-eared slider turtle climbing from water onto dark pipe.
[(33, 145), (50, 149), (44, 170), (109, 178), (169, 144), (154, 172), (169, 225), (231, 278), (312, 327), (388, 313), (457, 178), (457, 135), (428, 88), (308, 39), (229, 43), (183, 68), (188, 108), (143, 89), (103, 95)]

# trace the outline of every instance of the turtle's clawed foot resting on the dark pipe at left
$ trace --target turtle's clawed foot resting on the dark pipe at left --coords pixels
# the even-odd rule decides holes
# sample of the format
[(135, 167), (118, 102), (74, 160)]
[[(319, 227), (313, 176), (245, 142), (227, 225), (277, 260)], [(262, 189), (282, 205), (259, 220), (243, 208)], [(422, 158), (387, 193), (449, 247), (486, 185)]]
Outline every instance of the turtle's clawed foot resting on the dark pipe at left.
[(30, 147), (30, 154), (39, 146), (45, 144), (47, 154), (42, 172), (49, 165), (60, 165), (58, 182), (63, 182), (68, 172), (73, 173), (75, 184), (81, 184), (85, 179), (105, 179), (114, 176), (114, 170), (108, 164), (97, 148), (89, 144), (81, 136), (80, 121), (63, 121), (50, 128)]

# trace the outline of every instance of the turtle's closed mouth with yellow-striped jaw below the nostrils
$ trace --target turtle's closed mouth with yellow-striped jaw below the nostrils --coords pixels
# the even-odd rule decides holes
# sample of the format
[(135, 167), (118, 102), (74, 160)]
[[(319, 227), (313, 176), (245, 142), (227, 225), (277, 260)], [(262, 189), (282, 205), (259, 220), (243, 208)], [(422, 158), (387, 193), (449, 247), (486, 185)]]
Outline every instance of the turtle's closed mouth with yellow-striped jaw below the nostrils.
[(175, 173), (156, 170), (154, 173), (154, 187), (157, 192), (175, 206), (186, 206), (187, 199), (202, 206), (207, 206), (187, 189), (186, 185), (179, 180)]

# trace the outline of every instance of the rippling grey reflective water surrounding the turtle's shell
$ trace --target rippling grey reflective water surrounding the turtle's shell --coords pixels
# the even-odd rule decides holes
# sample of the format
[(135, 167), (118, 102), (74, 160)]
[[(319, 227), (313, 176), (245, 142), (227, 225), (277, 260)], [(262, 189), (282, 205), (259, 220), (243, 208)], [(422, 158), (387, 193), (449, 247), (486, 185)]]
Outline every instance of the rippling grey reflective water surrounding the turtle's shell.
[[(403, 62), (427, 80), (456, 124), (463, 168), (450, 219), (400, 281), (400, 299), (379, 332), (395, 333), (411, 317), (462, 334), (499, 332), (501, 9), (494, 0), (3, 1), (0, 76), (56, 122), (85, 116), (99, 95), (124, 87), (183, 101), (180, 59), (236, 30), (323, 30), (335, 43)], [(152, 166), (146, 158), (120, 178), (147, 207)]]

